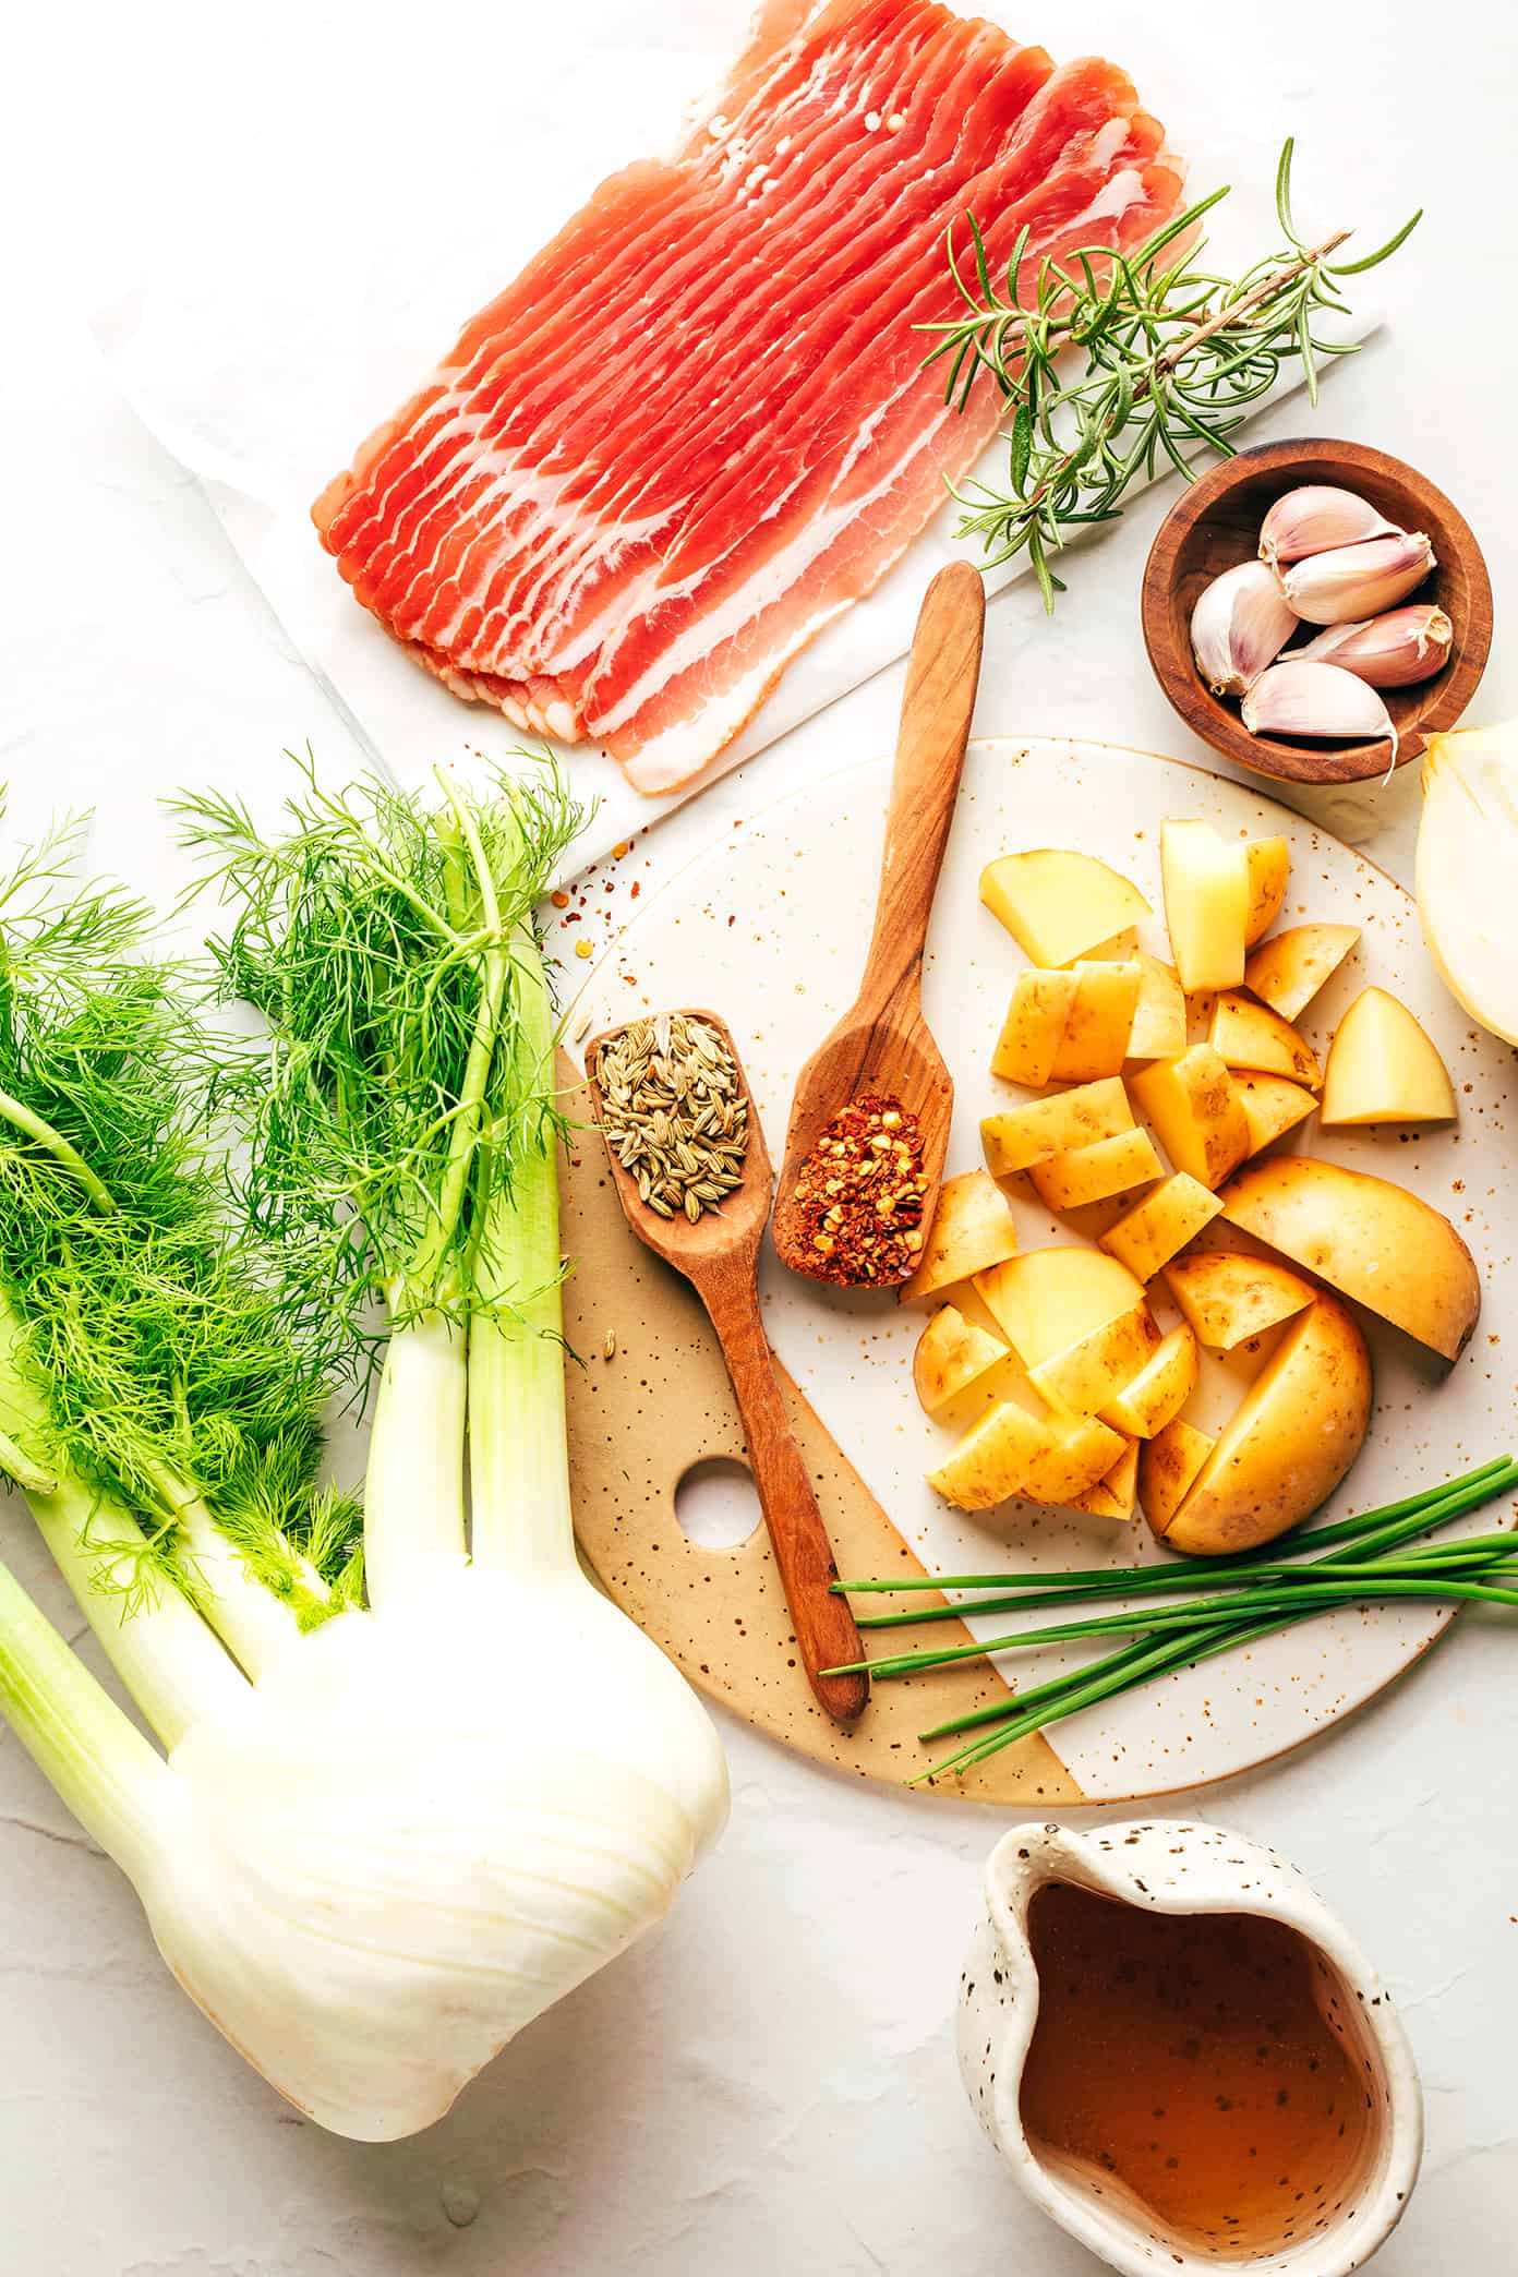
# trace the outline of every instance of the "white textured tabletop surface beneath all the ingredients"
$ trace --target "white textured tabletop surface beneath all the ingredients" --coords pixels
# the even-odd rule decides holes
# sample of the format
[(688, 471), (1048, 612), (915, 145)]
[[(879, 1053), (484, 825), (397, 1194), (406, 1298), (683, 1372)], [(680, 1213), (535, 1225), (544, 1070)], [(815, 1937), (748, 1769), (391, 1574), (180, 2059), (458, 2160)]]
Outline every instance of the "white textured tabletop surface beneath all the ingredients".
[[(721, 57), (742, 0), (460, 0), (446, 16), (330, 0), (259, 11), (59, 11), (11, 27), (0, 405), (0, 772), (11, 817), (93, 804), (102, 858), (168, 895), (155, 795), (216, 776), (278, 792), (278, 751), (312, 738), (344, 767), (341, 720), (289, 653), (175, 465), (114, 398), (80, 310), (218, 180), (298, 180), (312, 137), (346, 137), (355, 198), (405, 180), (405, 109), (448, 102), (501, 143), (574, 73), (619, 73), (628, 141), (655, 100), (655, 46)], [(523, 27), (517, 18), (530, 18)], [(658, 23), (658, 36), (651, 25)], [(1106, 46), (1193, 150), (1199, 182), (1259, 184), (1302, 141), (1302, 205), (1325, 225), (1429, 205), (1386, 273), (1391, 330), (1329, 383), (1322, 424), (1422, 465), (1461, 501), (1507, 599), (1513, 335), (1488, 310), (1511, 269), (1507, 11), (1436, 23), (1413, 0), (1065, 0), (1061, 52)], [(20, 50), (16, 41), (20, 39)], [(558, 68), (555, 68), (558, 57)], [(20, 98), (20, 100), (16, 100)], [(624, 150), (569, 150), (585, 184)], [(542, 212), (544, 230), (558, 221)], [(1259, 221), (1259, 196), (1240, 200)], [(1234, 239), (1247, 248), (1240, 225)], [(1290, 417), (1290, 414), (1286, 414)], [(1284, 414), (1274, 430), (1286, 433)], [(1190, 751), (1136, 628), (1136, 578), (1165, 492), (1076, 565), (1054, 628), (995, 603), (981, 726)], [(890, 738), (899, 669), (815, 720), (637, 849), (658, 877), (840, 749)], [(1518, 706), (1500, 631), (1477, 717)], [(1416, 786), (1356, 829), (1404, 868)], [(7, 1555), (66, 1617), (14, 1512)], [(77, 1628), (77, 1621), (73, 1624)], [(1295, 1858), (1391, 1979), (1429, 2102), (1429, 2159), (1377, 2277), (1504, 2277), (1518, 2184), (1518, 1644), (1466, 1621), (1356, 1724), (1224, 1790), (1206, 1817)], [(0, 2268), (7, 2277), (733, 2277), (776, 2268), (965, 2277), (1092, 2263), (1026, 2211), (960, 2099), (949, 2017), (976, 1876), (997, 1824), (860, 1792), (726, 1726), (733, 1826), (662, 1935), (544, 2017), (410, 2145), (303, 2127), (189, 2008), (116, 1872), (0, 1740)]]

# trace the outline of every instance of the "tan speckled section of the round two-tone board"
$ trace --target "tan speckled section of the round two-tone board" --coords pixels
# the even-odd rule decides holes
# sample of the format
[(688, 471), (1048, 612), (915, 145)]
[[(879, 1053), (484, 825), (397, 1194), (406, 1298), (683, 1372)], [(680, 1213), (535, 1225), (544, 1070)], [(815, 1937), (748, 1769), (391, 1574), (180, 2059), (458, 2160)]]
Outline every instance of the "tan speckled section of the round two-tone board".
[[(578, 1070), (567, 1070), (567, 1079), (578, 1086)], [(576, 1120), (580, 1100), (576, 1088), (569, 1100)], [(710, 1699), (815, 1762), (906, 1785), (947, 1753), (944, 1742), (924, 1749), (917, 1733), (1006, 1696), (1006, 1685), (990, 1669), (979, 1680), (949, 1669), (876, 1685), (853, 1728), (817, 1708), (797, 1662), (765, 1528), (737, 1548), (712, 1551), (692, 1542), (676, 1516), (676, 1491), (696, 1464), (744, 1460), (737, 1405), (701, 1302), (628, 1230), (599, 1138), (585, 1134), (576, 1143), (562, 1184), (564, 1252), (574, 1259), (564, 1334), (578, 1362), (569, 1366), (569, 1462), (585, 1557), (621, 1610)], [(781, 1387), (840, 1571), (922, 1573), (783, 1368)], [(942, 1598), (931, 1594), (926, 1603)], [(970, 1644), (958, 1621), (944, 1621), (938, 1635)], [(1083, 1799), (1042, 1737), (1001, 1749), (947, 1790), (917, 1792), (1017, 1808)]]

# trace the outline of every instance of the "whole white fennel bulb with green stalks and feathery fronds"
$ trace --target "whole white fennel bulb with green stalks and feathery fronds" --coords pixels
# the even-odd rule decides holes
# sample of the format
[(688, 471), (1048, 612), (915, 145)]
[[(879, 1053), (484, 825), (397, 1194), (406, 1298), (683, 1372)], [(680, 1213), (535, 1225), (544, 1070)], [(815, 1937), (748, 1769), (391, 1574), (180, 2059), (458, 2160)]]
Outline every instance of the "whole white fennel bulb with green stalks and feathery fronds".
[[(726, 1769), (574, 1553), (558, 786), (184, 813), (253, 1045), (123, 961), (130, 904), (0, 888), (0, 1464), (164, 1753), (5, 1567), (0, 1710), (228, 2040), (391, 2140), (669, 1908)], [(376, 1334), (360, 1532), (316, 1407)]]

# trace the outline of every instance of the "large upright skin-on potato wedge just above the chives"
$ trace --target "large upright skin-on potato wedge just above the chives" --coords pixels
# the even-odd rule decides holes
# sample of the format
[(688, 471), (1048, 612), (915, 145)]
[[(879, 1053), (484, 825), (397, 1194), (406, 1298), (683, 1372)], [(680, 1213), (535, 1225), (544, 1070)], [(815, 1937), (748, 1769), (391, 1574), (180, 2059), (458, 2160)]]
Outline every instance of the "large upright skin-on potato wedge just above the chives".
[(1193, 1557), (1252, 1551), (1300, 1526), (1340, 1482), (1370, 1430), (1370, 1353), (1338, 1298), (1286, 1330), (1195, 1485), (1154, 1526)]

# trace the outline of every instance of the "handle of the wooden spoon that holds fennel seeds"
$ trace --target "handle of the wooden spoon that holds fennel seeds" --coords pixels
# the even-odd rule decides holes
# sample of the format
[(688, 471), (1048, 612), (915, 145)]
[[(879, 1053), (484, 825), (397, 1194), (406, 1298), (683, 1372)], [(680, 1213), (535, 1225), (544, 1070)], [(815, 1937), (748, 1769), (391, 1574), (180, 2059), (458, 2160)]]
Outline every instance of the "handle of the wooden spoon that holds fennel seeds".
[(840, 1724), (849, 1724), (869, 1699), (869, 1680), (865, 1676), (819, 1676), (819, 1669), (863, 1660), (865, 1646), (853, 1626), (849, 1601), (833, 1596), (828, 1587), (838, 1580), (833, 1544), (781, 1400), (758, 1291), (749, 1282), (746, 1289), (728, 1284), (706, 1287), (701, 1293), (721, 1339), (737, 1394), (737, 1412), (744, 1419), (749, 1469), (769, 1526), (774, 1562), (785, 1585), (801, 1664), (822, 1708)]

